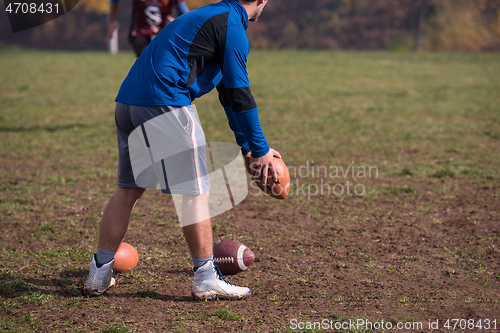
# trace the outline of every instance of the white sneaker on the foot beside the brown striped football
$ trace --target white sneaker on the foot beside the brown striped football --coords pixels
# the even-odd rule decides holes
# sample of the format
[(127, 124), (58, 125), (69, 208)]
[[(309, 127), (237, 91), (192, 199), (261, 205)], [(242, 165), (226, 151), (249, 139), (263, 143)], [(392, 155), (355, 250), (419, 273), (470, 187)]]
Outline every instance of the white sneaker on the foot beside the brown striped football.
[(250, 289), (227, 282), (212, 260), (194, 272), (192, 295), (197, 300), (240, 299), (250, 295)]

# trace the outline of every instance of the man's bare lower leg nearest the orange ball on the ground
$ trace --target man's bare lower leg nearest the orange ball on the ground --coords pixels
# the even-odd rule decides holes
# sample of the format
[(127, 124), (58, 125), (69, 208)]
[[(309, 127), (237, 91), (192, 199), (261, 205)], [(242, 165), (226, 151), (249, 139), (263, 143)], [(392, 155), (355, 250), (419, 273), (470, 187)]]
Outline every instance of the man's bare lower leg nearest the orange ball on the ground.
[(130, 214), (144, 193), (140, 187), (119, 187), (109, 201), (101, 221), (98, 247), (116, 251), (125, 236)]

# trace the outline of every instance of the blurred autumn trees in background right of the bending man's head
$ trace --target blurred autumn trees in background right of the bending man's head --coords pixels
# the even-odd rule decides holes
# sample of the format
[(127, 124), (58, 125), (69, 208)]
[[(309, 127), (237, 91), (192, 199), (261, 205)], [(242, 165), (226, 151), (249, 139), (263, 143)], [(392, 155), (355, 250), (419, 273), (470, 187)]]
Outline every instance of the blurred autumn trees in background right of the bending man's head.
[(499, 0), (269, 1), (261, 48), (499, 51)]

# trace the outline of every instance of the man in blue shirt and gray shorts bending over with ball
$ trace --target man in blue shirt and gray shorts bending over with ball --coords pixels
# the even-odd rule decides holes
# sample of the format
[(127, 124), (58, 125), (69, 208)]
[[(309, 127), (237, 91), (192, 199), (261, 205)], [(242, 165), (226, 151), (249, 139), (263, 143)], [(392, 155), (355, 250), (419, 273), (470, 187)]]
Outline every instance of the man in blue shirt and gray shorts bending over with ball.
[(279, 153), (269, 148), (262, 133), (246, 68), (246, 28), (266, 4), (267, 0), (222, 0), (186, 13), (161, 30), (130, 69), (116, 97), (118, 189), (104, 211), (85, 293), (101, 295), (115, 284), (115, 251), (143, 187), (149, 187), (142, 185), (148, 179), (139, 179), (141, 175), (132, 170), (131, 137), (138, 137), (151, 156), (151, 142), (158, 137), (151, 133), (160, 133), (162, 149), (177, 153), (168, 153), (175, 158), (157, 165), (160, 175), (151, 186), (159, 181), (163, 192), (183, 194), (180, 222), (193, 258), (194, 298), (250, 295), (250, 289), (227, 282), (213, 262), (212, 227), (206, 213), (205, 136), (190, 105), (216, 87), (247, 170), (262, 184), (267, 182), (268, 171), (277, 180), (273, 156)]

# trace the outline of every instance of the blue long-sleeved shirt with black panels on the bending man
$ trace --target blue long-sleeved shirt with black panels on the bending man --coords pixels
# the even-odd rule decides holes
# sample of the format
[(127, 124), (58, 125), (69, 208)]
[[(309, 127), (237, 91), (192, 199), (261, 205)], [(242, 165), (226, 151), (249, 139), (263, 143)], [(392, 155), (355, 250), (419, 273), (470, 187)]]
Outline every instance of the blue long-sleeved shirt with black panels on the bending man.
[(185, 106), (215, 87), (242, 152), (269, 152), (246, 67), (248, 16), (237, 0), (222, 0), (175, 19), (137, 58), (116, 101)]

